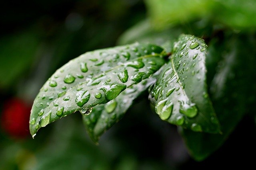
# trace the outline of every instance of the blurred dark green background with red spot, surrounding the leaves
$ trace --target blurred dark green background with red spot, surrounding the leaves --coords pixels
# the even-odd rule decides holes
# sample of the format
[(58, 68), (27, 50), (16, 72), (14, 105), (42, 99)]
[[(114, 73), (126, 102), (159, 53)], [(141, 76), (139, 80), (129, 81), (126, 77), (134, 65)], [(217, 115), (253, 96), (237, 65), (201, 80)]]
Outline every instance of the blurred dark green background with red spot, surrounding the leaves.
[[(0, 25), (1, 170), (201, 169), (221, 163), (236, 166), (236, 160), (253, 163), (248, 152), (256, 151), (255, 109), (202, 162), (190, 158), (176, 126), (148, 109), (146, 95), (98, 146), (86, 134), (80, 114), (48, 125), (35, 139), (28, 121), (39, 89), (69, 60), (134, 41), (161, 44), (180, 33), (207, 43), (213, 35), (255, 39), (255, 0), (4, 1)], [(255, 57), (254, 52), (248, 51)]]

